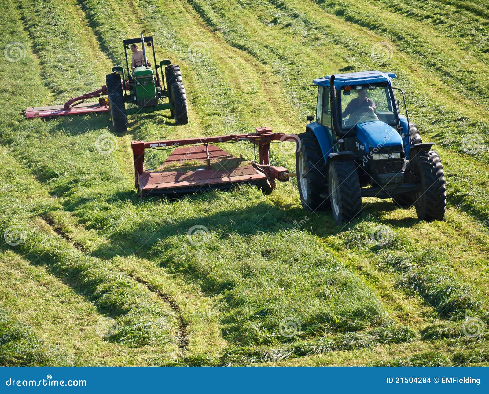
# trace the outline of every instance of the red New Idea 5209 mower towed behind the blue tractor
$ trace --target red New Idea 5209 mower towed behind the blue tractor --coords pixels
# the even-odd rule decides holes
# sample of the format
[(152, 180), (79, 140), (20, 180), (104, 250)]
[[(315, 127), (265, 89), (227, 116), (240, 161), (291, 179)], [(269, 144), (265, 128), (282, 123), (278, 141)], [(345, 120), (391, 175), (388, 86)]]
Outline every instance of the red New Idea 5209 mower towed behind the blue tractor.
[[(240, 158), (223, 149), (209, 144), (209, 142), (237, 142), (239, 140), (247, 140), (260, 147), (260, 163), (253, 162), (251, 165), (240, 166), (239, 163), (243, 161), (242, 158), (240, 160)], [(275, 179), (287, 181), (289, 176), (293, 175), (289, 174), (283, 167), (269, 165), (268, 149), (272, 140), (295, 141), (295, 136), (281, 133), (273, 134), (268, 128), (257, 128), (257, 132), (252, 134), (173, 141), (133, 142), (135, 186), (138, 188), (140, 197), (148, 194), (180, 196), (215, 189), (227, 190), (239, 184), (252, 184), (259, 187), (264, 193), (269, 194), (275, 188)], [(198, 142), (204, 145), (193, 145)], [(175, 149), (156, 171), (142, 170), (145, 148), (161, 149), (159, 147), (178, 145), (188, 146)], [(170, 165), (178, 163), (185, 165), (189, 162), (195, 163), (195, 161), (202, 163), (202, 166), (197, 165), (200, 168), (192, 170), (168, 169)], [(231, 166), (229, 166), (230, 163)]]

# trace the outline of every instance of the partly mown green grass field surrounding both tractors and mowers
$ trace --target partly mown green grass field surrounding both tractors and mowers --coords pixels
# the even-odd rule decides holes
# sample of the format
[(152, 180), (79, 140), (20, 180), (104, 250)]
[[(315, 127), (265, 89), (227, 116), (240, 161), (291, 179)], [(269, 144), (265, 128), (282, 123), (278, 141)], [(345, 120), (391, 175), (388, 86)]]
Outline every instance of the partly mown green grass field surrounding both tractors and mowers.
[[(489, 365), (488, 1), (0, 4), (0, 365)], [(188, 125), (134, 115), (116, 137), (107, 115), (18, 115), (105, 84), (143, 29), (182, 69)], [(369, 69), (397, 73), (436, 143), (444, 221), (364, 198), (337, 226), (295, 179), (137, 197), (131, 141), (299, 133), (312, 79)], [(270, 160), (293, 171), (293, 144)]]

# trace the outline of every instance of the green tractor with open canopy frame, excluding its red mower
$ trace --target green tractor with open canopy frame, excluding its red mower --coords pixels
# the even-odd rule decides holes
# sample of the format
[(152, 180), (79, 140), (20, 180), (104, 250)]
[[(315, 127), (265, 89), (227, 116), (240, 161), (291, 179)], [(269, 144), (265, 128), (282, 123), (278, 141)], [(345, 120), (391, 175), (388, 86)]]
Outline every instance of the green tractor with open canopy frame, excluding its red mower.
[[(112, 72), (106, 76), (107, 95), (112, 127), (116, 133), (127, 131), (127, 115), (137, 113), (150, 113), (162, 109), (170, 109), (170, 116), (177, 125), (188, 123), (187, 98), (183, 87), (180, 67), (172, 65), (165, 59), (156, 66), (155, 46), (153, 37), (144, 37), (144, 30), (140, 38), (124, 40), (126, 55), (127, 79), (122, 66), (112, 67)], [(132, 44), (141, 44), (144, 60), (136, 62), (135, 69), (130, 70), (127, 51)], [(146, 58), (145, 46), (153, 49), (155, 70)], [(165, 81), (160, 80), (158, 68)], [(168, 98), (168, 103), (163, 100)], [(129, 104), (126, 108), (126, 103)]]

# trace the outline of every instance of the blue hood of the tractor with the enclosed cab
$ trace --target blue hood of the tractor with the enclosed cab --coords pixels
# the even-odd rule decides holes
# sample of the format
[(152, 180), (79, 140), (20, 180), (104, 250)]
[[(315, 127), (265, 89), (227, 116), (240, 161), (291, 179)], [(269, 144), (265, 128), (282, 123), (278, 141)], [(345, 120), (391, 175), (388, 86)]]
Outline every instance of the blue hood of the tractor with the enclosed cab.
[(379, 120), (356, 125), (356, 139), (366, 152), (374, 148), (394, 148), (402, 151), (402, 139), (396, 129)]

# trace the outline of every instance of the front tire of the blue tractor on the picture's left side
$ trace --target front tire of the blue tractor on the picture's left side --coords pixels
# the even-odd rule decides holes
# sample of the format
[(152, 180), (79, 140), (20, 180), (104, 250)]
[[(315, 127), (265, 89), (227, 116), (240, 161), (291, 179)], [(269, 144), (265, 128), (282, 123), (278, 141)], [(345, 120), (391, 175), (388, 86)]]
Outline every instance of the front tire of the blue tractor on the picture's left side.
[(328, 171), (331, 211), (338, 225), (362, 214), (360, 181), (353, 160), (333, 161)]

